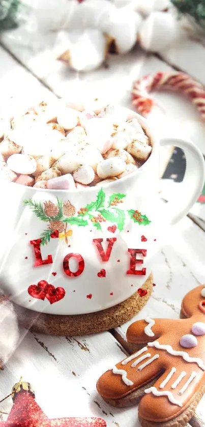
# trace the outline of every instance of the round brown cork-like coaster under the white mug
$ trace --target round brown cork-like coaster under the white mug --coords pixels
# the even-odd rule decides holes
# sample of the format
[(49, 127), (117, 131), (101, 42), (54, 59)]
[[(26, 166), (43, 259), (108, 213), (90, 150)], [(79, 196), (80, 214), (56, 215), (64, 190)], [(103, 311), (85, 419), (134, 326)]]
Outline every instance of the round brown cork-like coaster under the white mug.
[(31, 331), (63, 336), (85, 335), (115, 328), (132, 319), (148, 302), (152, 294), (152, 273), (141, 289), (144, 292), (135, 292), (134, 295), (118, 305), (84, 315), (49, 315), (28, 310), (17, 304), (14, 304), (14, 307), (19, 323)]

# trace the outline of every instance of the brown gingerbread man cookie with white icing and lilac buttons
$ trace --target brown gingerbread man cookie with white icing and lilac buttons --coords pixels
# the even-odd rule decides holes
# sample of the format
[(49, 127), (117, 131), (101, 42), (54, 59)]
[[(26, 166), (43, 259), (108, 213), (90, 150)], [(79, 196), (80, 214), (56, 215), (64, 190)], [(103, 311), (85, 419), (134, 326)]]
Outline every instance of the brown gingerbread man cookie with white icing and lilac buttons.
[(183, 427), (205, 392), (205, 286), (182, 301), (184, 319), (150, 319), (127, 330), (136, 353), (104, 373), (97, 390), (113, 406), (130, 406), (142, 397), (143, 427)]

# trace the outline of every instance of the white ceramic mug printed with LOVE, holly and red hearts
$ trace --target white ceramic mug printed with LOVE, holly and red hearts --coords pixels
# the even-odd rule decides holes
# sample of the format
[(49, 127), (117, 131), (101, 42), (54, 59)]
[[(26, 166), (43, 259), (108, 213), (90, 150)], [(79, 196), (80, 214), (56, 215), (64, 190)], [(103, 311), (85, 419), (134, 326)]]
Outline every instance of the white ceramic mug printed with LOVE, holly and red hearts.
[[(145, 119), (129, 115), (146, 130), (153, 150), (125, 178), (76, 191), (1, 182), (0, 286), (17, 304), (73, 315), (122, 302), (148, 278), (166, 223), (177, 222), (197, 200), (204, 182), (200, 151), (181, 139), (159, 144)], [(182, 148), (187, 162), (180, 192), (163, 212), (157, 204), (160, 145)]]

